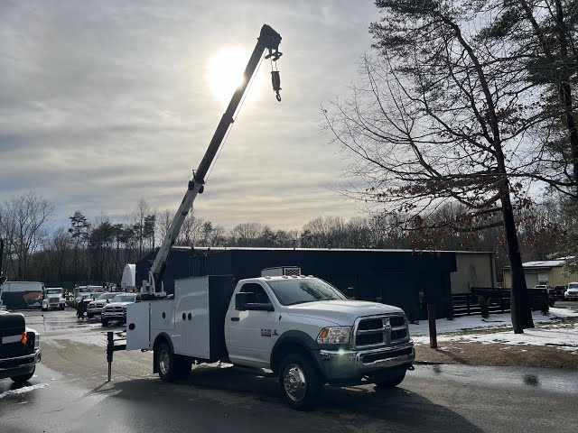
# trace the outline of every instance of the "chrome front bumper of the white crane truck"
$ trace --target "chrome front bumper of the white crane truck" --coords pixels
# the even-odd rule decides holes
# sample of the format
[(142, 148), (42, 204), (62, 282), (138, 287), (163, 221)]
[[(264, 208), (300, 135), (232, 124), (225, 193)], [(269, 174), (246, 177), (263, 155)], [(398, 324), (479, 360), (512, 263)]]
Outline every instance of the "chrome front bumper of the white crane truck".
[(371, 377), (387, 375), (387, 371), (409, 368), (415, 360), (414, 344), (354, 352), (350, 350), (320, 351), (328, 382), (368, 382)]

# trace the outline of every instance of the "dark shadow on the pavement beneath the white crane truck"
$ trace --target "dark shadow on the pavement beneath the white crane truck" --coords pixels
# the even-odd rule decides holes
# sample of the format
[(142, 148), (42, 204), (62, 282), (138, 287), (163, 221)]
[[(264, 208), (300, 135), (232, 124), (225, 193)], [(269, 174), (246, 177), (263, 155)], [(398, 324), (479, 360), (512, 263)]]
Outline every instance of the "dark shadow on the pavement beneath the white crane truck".
[[(188, 401), (190, 410), (201, 410), (206, 405), (221, 409), (227, 407), (228, 410), (240, 410), (243, 417), (247, 414), (261, 417), (260, 427), (269, 424), (270, 417), (278, 422), (278, 417), (282, 416), (284, 419), (301, 419), (308, 431), (323, 429), (322, 426), (326, 431), (331, 431), (328, 419), (331, 419), (331, 423), (339, 422), (344, 428), (350, 426), (355, 429), (362, 422), (365, 427), (375, 424), (378, 430), (387, 427), (392, 431), (483, 431), (458, 413), (405, 390), (403, 383), (400, 387), (378, 392), (373, 386), (326, 386), (322, 390), (319, 406), (312, 412), (297, 412), (287, 407), (276, 378), (255, 376), (234, 368), (196, 368), (187, 380), (175, 383), (139, 379), (113, 382), (112, 386), (117, 391), (115, 398), (138, 402), (140, 406), (147, 405), (147, 401), (152, 406), (163, 401), (163, 406), (178, 411), (178, 407)], [(276, 430), (283, 430), (284, 427), (288, 426), (270, 425)]]

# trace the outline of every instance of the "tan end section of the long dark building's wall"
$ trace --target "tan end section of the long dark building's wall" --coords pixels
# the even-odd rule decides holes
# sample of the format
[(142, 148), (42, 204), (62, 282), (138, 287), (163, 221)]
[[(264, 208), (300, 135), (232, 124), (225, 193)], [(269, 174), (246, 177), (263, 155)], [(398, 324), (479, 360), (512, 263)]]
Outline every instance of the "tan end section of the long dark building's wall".
[(452, 293), (470, 293), (472, 287), (496, 287), (494, 253), (455, 253), (456, 272), (450, 274)]

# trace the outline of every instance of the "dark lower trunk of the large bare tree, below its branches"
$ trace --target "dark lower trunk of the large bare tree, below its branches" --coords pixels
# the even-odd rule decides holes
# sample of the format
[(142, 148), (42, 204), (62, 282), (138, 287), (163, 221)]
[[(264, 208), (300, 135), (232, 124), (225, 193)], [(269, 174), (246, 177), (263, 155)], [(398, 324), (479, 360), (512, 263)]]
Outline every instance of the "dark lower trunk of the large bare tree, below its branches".
[(508, 243), (508, 260), (512, 276), (512, 291), (510, 297), (512, 327), (514, 327), (514, 333), (522, 334), (524, 329), (534, 327), (534, 322), (527, 299), (526, 278), (524, 276), (524, 267), (522, 266), (522, 257), (520, 256), (520, 250), (517, 244), (516, 223), (514, 222), (514, 212), (509, 199), (508, 184), (502, 187), (500, 200), (502, 203), (504, 231)]

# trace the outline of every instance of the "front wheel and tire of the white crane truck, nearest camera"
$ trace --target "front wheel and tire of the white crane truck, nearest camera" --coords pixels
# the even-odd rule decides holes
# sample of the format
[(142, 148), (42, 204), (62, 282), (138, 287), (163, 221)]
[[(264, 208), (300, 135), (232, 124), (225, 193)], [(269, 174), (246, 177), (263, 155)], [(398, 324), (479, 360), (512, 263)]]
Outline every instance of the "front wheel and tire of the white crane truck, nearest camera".
[(279, 365), (279, 388), (292, 409), (312, 410), (322, 389), (321, 374), (306, 355), (285, 355)]

